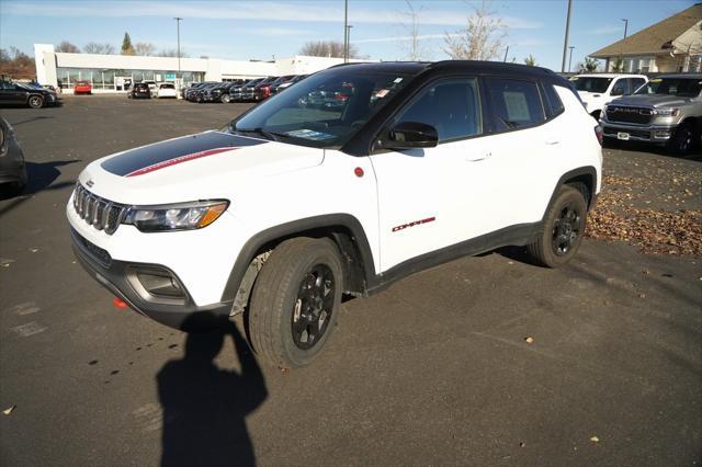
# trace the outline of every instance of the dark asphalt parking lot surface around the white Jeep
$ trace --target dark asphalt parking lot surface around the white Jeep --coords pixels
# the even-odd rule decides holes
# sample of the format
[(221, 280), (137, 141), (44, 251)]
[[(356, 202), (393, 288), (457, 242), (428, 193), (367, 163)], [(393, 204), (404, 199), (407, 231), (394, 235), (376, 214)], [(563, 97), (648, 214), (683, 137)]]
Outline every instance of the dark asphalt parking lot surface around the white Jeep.
[[(115, 309), (70, 249), (79, 172), (246, 107), (0, 109), (31, 178), (0, 201), (0, 464), (700, 465), (695, 255), (586, 240), (556, 271), (514, 249), (463, 259), (347, 301), (322, 355), (288, 372), (234, 327), (189, 337)], [(637, 149), (608, 150), (605, 170), (702, 172)]]

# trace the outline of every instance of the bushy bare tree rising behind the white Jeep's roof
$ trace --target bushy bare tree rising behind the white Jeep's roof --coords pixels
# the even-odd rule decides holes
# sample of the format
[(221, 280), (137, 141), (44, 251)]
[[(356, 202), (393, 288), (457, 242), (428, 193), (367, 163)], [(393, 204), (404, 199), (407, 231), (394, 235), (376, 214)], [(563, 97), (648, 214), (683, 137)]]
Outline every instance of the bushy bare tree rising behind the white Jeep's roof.
[(505, 48), (506, 37), (507, 25), (490, 10), (490, 3), (483, 1), (473, 5), (464, 29), (445, 34), (443, 50), (453, 59), (491, 60)]

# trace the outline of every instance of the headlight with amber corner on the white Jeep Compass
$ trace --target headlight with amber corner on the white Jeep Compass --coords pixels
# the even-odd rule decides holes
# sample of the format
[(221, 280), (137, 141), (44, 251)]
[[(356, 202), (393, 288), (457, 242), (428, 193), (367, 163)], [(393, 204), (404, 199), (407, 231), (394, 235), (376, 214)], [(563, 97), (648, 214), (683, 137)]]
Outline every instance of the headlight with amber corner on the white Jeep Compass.
[(226, 200), (132, 206), (122, 224), (135, 226), (143, 232), (195, 230), (217, 220), (228, 206), (229, 202)]

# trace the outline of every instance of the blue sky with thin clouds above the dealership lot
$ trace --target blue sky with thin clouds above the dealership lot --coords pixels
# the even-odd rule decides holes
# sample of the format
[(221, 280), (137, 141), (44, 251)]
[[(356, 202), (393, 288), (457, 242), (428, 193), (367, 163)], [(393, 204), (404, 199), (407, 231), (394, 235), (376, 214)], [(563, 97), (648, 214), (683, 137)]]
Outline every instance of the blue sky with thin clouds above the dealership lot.
[[(465, 27), (472, 5), (464, 0), (410, 0), (417, 12), (423, 58), (448, 58), (444, 35)], [(624, 34), (632, 34), (690, 5), (694, 0), (573, 0), (573, 67)], [(530, 54), (540, 66), (559, 71), (567, 0), (492, 0), (507, 25), (508, 60)], [(370, 59), (407, 59), (405, 0), (349, 0), (351, 43)], [(191, 57), (272, 59), (299, 53), (308, 41), (343, 42), (343, 0), (0, 0), (0, 48), (33, 55), (33, 44), (68, 41), (132, 42), (176, 49), (173, 16), (181, 16), (181, 50)], [(567, 68), (567, 64), (566, 64)]]

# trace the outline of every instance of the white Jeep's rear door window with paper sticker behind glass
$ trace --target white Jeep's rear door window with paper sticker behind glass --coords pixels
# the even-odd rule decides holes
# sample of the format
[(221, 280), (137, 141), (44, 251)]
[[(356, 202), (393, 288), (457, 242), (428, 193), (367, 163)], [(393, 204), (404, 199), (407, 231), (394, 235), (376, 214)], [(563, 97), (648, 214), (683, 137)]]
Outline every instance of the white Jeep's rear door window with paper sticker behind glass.
[(539, 125), (546, 119), (539, 88), (533, 81), (488, 78), (495, 125), (508, 130)]

